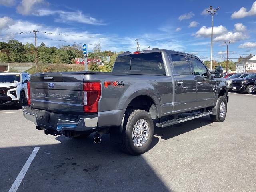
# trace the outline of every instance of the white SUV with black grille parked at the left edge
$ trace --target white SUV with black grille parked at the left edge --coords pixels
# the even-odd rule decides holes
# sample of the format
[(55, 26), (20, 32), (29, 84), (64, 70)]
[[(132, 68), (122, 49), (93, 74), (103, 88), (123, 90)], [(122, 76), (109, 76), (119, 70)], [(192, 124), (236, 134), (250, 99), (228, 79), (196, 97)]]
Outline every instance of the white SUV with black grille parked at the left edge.
[(27, 98), (29, 73), (0, 73), (0, 106), (16, 104), (22, 108)]

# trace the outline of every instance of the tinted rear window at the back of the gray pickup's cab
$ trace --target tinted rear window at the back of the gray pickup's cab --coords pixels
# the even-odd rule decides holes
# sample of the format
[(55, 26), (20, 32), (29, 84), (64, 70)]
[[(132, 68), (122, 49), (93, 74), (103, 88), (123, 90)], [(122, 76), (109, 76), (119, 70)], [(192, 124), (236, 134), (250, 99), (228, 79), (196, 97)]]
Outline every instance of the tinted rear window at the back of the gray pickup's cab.
[(165, 75), (161, 53), (142, 53), (119, 56), (113, 72)]

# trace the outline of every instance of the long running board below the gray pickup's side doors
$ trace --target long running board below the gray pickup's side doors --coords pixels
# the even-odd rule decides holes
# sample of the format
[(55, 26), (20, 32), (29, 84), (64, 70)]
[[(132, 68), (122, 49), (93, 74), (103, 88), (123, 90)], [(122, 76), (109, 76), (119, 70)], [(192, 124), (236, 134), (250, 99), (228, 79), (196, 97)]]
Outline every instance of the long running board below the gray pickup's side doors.
[(172, 119), (172, 120), (164, 121), (162, 123), (157, 123), (156, 126), (157, 127), (168, 127), (168, 126), (171, 126), (171, 125), (174, 125), (174, 124), (182, 123), (182, 122), (185, 122), (185, 121), (189, 121), (189, 120), (192, 120), (192, 119), (200, 118), (200, 117), (211, 115), (211, 114), (212, 114), (212, 111), (207, 111), (207, 112), (199, 113), (199, 114), (196, 114), (196, 115), (190, 115), (190, 116), (182, 117), (182, 118), (179, 118), (179, 119)]

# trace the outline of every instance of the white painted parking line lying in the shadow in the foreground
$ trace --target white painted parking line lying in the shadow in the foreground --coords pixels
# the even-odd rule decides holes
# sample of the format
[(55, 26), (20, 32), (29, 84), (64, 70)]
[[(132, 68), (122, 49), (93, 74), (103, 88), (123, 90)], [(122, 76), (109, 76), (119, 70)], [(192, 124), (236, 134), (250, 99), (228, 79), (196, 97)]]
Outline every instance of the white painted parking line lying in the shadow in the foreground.
[(26, 161), (26, 163), (24, 164), (22, 170), (20, 171), (20, 173), (18, 174), (16, 180), (14, 181), (14, 183), (12, 184), (9, 192), (16, 192), (17, 189), (20, 186), (20, 183), (22, 182), (26, 172), (28, 171), (29, 166), (31, 165), (33, 159), (35, 158), (38, 150), (40, 147), (35, 147), (34, 150), (32, 151), (32, 153), (30, 154), (28, 160)]

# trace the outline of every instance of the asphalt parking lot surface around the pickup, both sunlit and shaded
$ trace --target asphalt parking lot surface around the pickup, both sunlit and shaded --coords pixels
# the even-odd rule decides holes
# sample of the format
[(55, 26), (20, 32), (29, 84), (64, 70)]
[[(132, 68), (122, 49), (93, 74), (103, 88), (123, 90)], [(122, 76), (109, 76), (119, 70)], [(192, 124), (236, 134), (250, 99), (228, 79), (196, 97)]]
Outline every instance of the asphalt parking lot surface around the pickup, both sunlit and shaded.
[(0, 107), (0, 191), (8, 192), (40, 147), (18, 192), (256, 191), (256, 95), (230, 93), (226, 121), (210, 116), (156, 128), (152, 148), (123, 154), (105, 135), (100, 144), (44, 135), (22, 110)]

